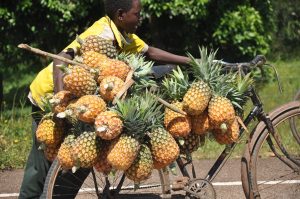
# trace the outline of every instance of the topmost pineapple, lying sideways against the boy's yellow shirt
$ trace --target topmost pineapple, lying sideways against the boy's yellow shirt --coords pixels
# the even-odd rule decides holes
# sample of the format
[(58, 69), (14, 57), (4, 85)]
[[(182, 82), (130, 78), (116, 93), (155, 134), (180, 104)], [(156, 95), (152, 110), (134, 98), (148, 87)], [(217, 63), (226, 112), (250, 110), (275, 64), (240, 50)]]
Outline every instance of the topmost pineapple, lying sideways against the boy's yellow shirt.
[(84, 40), (77, 37), (80, 44), (80, 52), (95, 51), (106, 55), (109, 58), (116, 58), (117, 49), (111, 40), (106, 40), (97, 35), (90, 35)]

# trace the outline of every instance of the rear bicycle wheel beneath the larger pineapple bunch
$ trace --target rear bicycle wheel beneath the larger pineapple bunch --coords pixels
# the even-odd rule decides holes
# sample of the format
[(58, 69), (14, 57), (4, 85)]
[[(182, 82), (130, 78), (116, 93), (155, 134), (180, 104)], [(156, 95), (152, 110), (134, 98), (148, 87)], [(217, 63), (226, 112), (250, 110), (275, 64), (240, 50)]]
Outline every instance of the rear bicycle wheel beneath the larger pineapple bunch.
[[(157, 175), (158, 172), (158, 175)], [(48, 172), (41, 198), (159, 198), (168, 196), (170, 183), (162, 170), (154, 170), (152, 177), (137, 185), (123, 172), (104, 176), (93, 169), (79, 169), (75, 173), (63, 171), (57, 160)]]

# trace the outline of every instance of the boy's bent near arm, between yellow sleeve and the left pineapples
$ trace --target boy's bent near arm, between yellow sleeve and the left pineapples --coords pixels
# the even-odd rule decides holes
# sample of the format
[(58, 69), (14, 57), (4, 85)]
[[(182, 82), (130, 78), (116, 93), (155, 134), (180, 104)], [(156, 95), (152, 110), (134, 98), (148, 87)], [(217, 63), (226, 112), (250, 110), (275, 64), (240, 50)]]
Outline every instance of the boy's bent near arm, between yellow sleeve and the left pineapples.
[[(75, 56), (74, 50), (71, 48), (68, 48), (67, 50), (64, 50), (58, 54), (59, 56), (62, 56), (67, 59), (73, 59)], [(68, 64), (54, 59), (53, 60), (53, 83), (54, 83), (54, 93), (57, 93), (64, 88), (64, 83), (63, 83), (63, 77), (64, 73), (61, 69), (59, 69), (59, 65), (65, 65), (67, 66)]]

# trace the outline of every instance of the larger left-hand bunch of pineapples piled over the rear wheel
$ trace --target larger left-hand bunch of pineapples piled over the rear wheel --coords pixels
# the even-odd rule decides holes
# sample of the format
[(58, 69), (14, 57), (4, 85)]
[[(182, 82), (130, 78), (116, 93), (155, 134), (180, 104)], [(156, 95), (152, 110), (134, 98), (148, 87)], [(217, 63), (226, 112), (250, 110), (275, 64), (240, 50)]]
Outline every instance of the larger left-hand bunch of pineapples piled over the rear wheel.
[[(45, 100), (50, 113), (36, 133), (41, 148), (63, 169), (95, 167), (105, 175), (121, 170), (136, 183), (144, 181), (179, 155), (162, 125), (163, 109), (153, 93), (157, 82), (149, 76), (153, 63), (140, 55), (117, 55), (98, 36), (80, 43), (76, 61), (88, 67), (61, 67), (64, 90)], [(130, 79), (135, 84), (115, 99)]]

